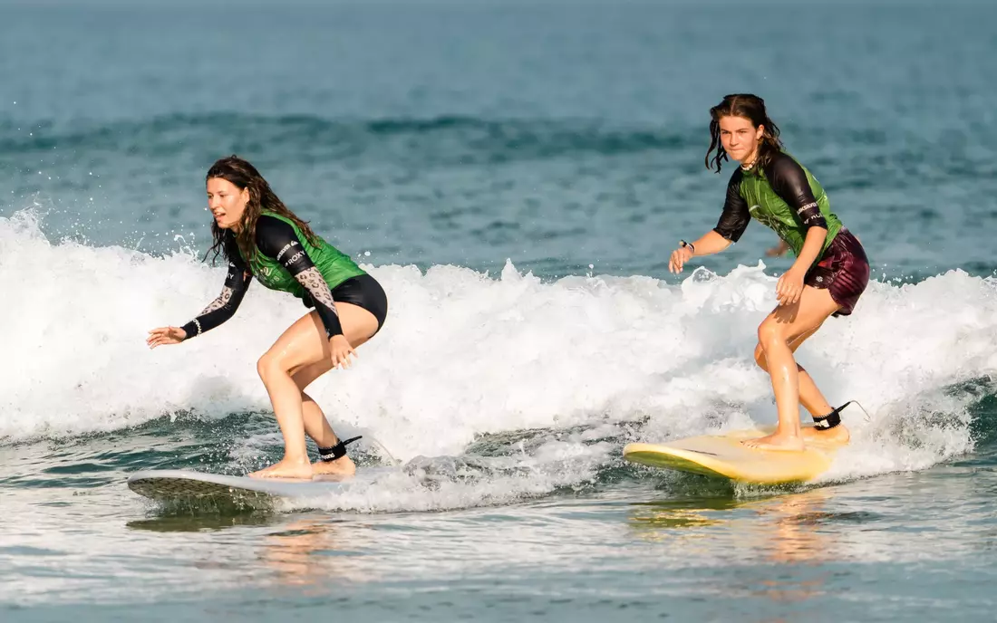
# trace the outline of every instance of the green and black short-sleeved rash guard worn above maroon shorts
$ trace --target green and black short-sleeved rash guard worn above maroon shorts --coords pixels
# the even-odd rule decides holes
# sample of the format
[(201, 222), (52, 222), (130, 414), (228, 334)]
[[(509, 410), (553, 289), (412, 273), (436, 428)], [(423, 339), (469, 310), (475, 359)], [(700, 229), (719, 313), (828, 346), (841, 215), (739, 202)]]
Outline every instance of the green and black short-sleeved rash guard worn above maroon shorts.
[(795, 255), (807, 239), (811, 227), (828, 230), (818, 259), (841, 229), (841, 221), (831, 212), (831, 201), (821, 182), (793, 156), (780, 152), (765, 170), (740, 166), (727, 184), (724, 211), (714, 231), (737, 242), (752, 216), (775, 230)]

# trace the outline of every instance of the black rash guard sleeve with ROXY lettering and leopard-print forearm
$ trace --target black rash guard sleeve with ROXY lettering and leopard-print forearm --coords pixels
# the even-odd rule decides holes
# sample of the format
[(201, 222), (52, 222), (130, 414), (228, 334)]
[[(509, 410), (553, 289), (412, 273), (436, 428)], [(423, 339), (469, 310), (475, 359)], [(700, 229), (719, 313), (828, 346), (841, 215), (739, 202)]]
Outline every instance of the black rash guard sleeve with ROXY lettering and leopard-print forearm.
[(304, 287), (322, 319), (326, 336), (342, 335), (343, 326), (329, 284), (308, 257), (294, 227), (273, 216), (260, 216), (256, 221), (256, 247), (267, 257), (277, 260)]

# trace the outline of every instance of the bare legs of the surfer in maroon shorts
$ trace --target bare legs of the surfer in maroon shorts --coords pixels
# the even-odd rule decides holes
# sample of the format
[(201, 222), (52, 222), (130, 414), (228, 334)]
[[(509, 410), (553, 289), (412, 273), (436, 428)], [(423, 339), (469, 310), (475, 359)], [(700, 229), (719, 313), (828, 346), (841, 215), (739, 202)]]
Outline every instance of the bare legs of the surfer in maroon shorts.
[[(746, 446), (766, 450), (803, 450), (800, 431), (801, 375), (790, 345), (798, 337), (813, 335), (837, 309), (838, 305), (828, 290), (804, 286), (796, 304), (780, 305), (758, 328), (758, 341), (776, 394), (779, 426), (773, 435), (748, 440), (744, 442)], [(818, 409), (822, 407), (820, 402), (827, 404), (813, 380), (810, 385), (815, 392), (807, 396), (808, 402), (819, 401), (811, 403), (811, 406)]]

